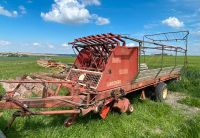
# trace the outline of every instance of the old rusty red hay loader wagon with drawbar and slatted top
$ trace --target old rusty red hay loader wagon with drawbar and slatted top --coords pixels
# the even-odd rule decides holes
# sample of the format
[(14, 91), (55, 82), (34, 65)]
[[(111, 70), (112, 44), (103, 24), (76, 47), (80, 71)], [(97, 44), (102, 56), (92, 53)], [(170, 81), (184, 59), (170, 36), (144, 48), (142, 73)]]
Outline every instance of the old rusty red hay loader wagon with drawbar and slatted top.
[[(187, 37), (188, 32), (185, 34)], [(127, 40), (138, 42), (139, 46), (127, 47)], [(177, 79), (183, 67), (175, 64), (173, 67), (162, 66), (149, 69), (141, 63), (141, 51), (149, 48), (145, 47), (144, 43), (154, 44), (154, 49), (162, 51), (162, 55), (163, 51), (187, 53), (187, 49), (181, 47), (112, 33), (75, 39), (69, 44), (72, 45), (75, 53), (78, 52), (78, 55), (64, 80), (0, 81), (19, 85), (39, 83), (57, 86), (55, 90), (50, 91), (45, 87), (41, 98), (16, 99), (13, 95), (18, 87), (7, 92), (5, 96), (1, 96), (0, 109), (19, 109), (13, 114), (7, 128), (12, 125), (16, 117), (21, 116), (69, 114), (70, 117), (64, 125), (70, 126), (79, 115), (86, 115), (89, 112), (98, 113), (103, 119), (112, 108), (117, 108), (122, 113), (133, 112), (134, 108), (126, 98), (128, 93), (144, 90), (147, 87), (156, 87), (168, 80)], [(143, 65), (142, 68), (141, 65)], [(69, 93), (61, 96), (62, 88), (68, 89)], [(65, 109), (39, 110), (41, 108), (58, 109), (58, 107)], [(38, 109), (32, 110), (32, 108)]]

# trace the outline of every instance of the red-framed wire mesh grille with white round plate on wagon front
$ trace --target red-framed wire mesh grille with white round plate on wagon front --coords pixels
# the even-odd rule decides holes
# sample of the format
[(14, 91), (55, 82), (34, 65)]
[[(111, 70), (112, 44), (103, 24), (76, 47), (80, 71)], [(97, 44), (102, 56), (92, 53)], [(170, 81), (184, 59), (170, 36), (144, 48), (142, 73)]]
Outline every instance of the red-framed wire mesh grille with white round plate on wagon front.
[(67, 80), (76, 81), (83, 85), (89, 84), (91, 87), (96, 88), (100, 78), (101, 73), (99, 72), (71, 69)]

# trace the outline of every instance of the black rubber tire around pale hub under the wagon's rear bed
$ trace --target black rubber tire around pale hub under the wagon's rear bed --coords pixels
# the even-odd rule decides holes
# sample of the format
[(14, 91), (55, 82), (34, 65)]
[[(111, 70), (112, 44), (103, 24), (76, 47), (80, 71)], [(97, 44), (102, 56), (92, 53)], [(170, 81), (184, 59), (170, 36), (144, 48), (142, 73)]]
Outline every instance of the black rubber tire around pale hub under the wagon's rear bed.
[(167, 89), (167, 84), (164, 82), (159, 83), (155, 88), (156, 101), (163, 102), (165, 99), (163, 98), (163, 91)]

